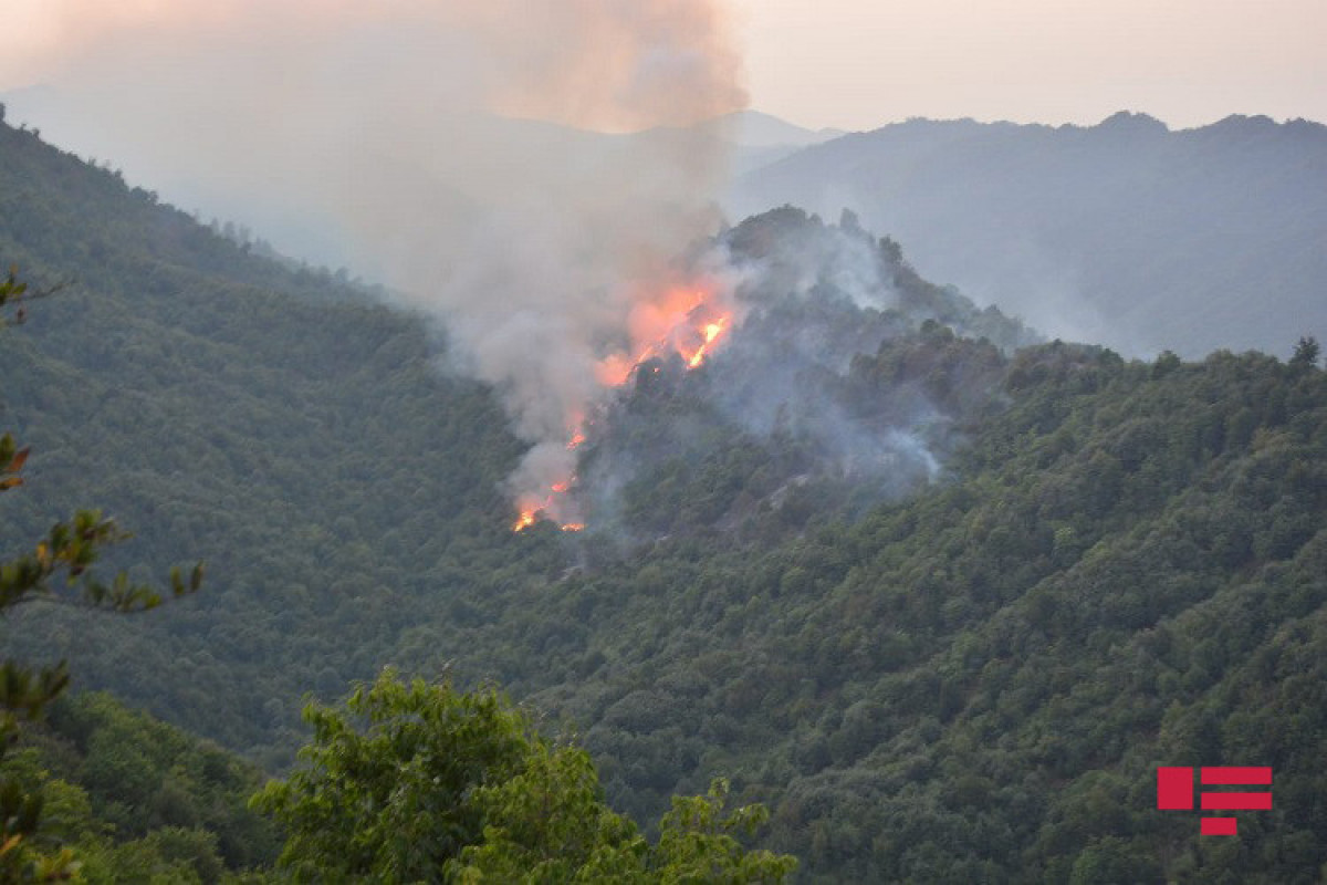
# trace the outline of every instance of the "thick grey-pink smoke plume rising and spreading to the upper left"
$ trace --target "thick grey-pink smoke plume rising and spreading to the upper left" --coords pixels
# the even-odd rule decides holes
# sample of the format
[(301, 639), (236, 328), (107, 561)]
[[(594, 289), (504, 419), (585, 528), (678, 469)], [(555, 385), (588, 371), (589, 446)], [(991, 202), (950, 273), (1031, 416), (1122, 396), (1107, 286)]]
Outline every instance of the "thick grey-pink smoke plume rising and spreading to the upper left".
[(28, 117), (52, 141), (446, 320), (458, 364), (535, 443), (514, 491), (567, 478), (596, 362), (715, 222), (722, 137), (683, 127), (746, 102), (719, 0), (52, 0), (28, 15), (41, 27), (21, 68), (0, 68), (15, 117), (13, 90), (40, 85)]

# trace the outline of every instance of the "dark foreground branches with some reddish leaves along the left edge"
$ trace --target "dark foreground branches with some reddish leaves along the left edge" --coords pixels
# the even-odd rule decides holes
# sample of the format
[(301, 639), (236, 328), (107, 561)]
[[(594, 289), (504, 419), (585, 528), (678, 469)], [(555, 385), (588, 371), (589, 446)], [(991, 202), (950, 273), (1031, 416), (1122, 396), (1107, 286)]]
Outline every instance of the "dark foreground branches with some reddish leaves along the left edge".
[[(50, 295), (29, 292), (9, 269), (0, 283), (0, 328), (23, 322), (25, 301)], [(20, 448), (11, 434), (0, 435), (0, 494), (23, 486), (21, 471), (29, 450)], [(127, 573), (104, 582), (90, 571), (101, 549), (129, 537), (101, 511), (81, 510), (68, 521), (56, 523), (29, 553), (0, 561), (0, 616), (31, 602), (53, 601), (105, 608), (122, 614), (146, 612), (161, 604), (162, 596), (145, 584), (134, 584)], [(64, 581), (58, 579), (64, 576)], [(171, 571), (171, 592), (183, 596), (199, 588), (203, 565), (198, 564), (186, 582), (179, 568)], [(19, 738), (20, 723), (42, 710), (69, 685), (65, 662), (35, 670), (19, 661), (0, 663), (0, 763)], [(50, 851), (40, 832), (42, 795), (25, 789), (8, 774), (0, 776), (0, 881), (53, 881), (68, 878), (77, 869), (72, 852)]]

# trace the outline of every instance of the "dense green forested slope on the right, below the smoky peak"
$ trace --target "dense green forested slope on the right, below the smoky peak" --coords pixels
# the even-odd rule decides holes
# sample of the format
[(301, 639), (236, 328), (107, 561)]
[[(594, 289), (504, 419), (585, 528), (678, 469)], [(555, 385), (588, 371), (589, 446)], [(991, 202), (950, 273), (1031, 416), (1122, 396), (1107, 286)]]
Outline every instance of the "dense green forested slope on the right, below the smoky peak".
[[(593, 723), (612, 800), (733, 772), (812, 881), (1316, 881), (1327, 378), (1003, 362), (942, 487), (759, 556), (662, 541), (475, 642), (579, 657), (514, 690)], [(1270, 764), (1275, 809), (1200, 844), (1161, 764)]]

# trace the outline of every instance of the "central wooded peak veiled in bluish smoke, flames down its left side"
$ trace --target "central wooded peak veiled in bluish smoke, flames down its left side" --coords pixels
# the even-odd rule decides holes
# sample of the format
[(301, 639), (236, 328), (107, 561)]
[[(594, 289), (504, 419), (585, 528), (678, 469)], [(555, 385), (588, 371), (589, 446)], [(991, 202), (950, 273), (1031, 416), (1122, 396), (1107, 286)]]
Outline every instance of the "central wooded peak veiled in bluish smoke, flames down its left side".
[(624, 344), (593, 364), (597, 397), (565, 419), (543, 479), (515, 490), (514, 531), (648, 537), (758, 510), (792, 519), (811, 495), (897, 498), (941, 476), (1001, 350), (1032, 340), (851, 220), (775, 210), (695, 267), (633, 299)]

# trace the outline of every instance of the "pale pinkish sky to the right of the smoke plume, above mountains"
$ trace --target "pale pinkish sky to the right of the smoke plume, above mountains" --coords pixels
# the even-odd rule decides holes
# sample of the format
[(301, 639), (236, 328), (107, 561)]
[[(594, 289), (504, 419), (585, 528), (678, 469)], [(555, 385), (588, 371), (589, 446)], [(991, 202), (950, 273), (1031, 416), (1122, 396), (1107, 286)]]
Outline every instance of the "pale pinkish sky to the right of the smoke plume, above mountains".
[(1327, 0), (735, 0), (754, 107), (809, 127), (908, 117), (1172, 127), (1327, 122)]

